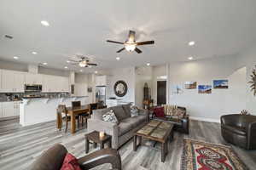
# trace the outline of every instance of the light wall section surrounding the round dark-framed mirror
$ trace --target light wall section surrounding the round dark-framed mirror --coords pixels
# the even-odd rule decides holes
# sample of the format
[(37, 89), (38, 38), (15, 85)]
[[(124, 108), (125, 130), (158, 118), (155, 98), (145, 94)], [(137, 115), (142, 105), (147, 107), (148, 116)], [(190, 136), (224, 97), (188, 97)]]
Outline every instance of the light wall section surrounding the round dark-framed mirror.
[(101, 71), (101, 74), (107, 75), (107, 99), (109, 97), (117, 97), (114, 94), (114, 83), (122, 80), (125, 81), (128, 86), (127, 94), (119, 99), (123, 99), (125, 102), (135, 102), (135, 67), (110, 69), (108, 71)]

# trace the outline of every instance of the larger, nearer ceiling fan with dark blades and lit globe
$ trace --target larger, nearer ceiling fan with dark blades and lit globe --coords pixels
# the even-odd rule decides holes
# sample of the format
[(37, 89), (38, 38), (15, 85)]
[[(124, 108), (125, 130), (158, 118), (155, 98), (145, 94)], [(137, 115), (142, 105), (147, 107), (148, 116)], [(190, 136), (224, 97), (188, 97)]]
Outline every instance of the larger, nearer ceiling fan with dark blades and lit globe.
[(128, 39), (125, 42), (116, 42), (116, 41), (112, 41), (112, 40), (107, 40), (107, 42), (119, 43), (119, 44), (125, 45), (124, 48), (119, 49), (116, 53), (120, 53), (121, 51), (126, 49), (129, 52), (135, 50), (138, 54), (143, 53), (143, 51), (140, 50), (139, 48), (137, 48), (137, 46), (154, 44), (154, 41), (136, 42), (135, 41), (135, 33), (136, 33), (135, 31), (129, 31)]

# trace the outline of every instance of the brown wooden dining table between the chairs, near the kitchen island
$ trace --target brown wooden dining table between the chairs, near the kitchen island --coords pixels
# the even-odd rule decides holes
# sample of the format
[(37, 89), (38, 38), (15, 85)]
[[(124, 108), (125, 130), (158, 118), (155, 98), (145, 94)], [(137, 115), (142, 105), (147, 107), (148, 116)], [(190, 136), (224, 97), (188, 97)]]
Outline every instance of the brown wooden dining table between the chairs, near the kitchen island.
[(90, 113), (90, 105), (67, 107), (67, 115), (71, 117), (71, 133), (76, 132), (76, 116), (80, 113)]

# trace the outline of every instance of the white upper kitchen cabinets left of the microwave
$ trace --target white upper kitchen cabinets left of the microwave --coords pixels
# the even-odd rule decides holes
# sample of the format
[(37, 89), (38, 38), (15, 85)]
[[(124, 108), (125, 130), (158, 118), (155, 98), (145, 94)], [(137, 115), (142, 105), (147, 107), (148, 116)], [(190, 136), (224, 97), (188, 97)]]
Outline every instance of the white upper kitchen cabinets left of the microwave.
[(24, 72), (2, 70), (1, 92), (24, 92)]

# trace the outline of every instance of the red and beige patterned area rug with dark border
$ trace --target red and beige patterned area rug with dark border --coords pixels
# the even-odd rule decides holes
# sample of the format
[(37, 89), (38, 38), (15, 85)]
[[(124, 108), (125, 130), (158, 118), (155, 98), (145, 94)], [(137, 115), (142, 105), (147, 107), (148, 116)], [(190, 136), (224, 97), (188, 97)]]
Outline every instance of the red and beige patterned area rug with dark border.
[(181, 170), (247, 170), (230, 146), (183, 139)]

